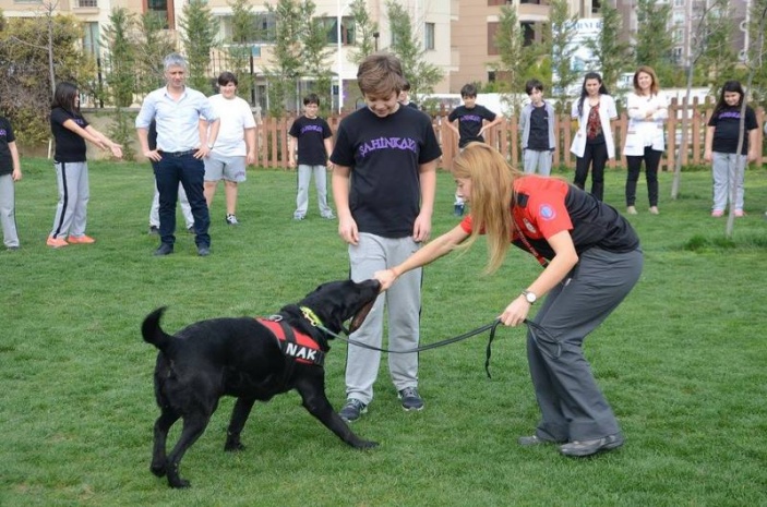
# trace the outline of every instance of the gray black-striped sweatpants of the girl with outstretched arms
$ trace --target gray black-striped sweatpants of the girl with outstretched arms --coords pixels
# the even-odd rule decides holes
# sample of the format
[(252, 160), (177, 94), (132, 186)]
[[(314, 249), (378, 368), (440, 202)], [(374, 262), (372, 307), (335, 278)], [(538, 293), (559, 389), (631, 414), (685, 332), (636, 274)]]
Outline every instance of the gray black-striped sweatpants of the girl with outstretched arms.
[(59, 203), (56, 206), (52, 238), (80, 237), (85, 234), (88, 189), (88, 162), (56, 162), (56, 179), (59, 183)]

